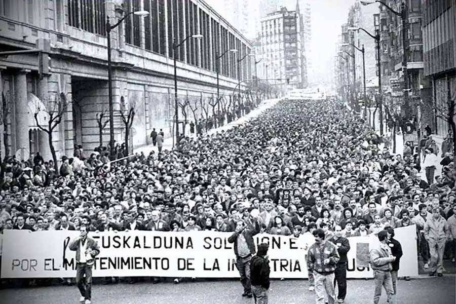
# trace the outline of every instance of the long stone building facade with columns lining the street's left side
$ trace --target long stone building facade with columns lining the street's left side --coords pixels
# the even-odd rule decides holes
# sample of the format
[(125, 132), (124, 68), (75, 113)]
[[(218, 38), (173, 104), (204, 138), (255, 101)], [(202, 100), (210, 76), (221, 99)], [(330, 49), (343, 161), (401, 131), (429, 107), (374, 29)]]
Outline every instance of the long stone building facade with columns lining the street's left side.
[[(179, 100), (207, 101), (216, 96), (217, 51), (239, 51), (220, 61), (221, 95), (231, 98), (238, 77), (252, 78), (250, 56), (241, 63), (240, 75), (236, 66), (236, 56), (250, 53), (250, 42), (202, 0), (4, 0), (0, 2), (0, 52), (50, 44), (50, 70), (41, 75), (39, 59), (47, 59), (43, 53), (0, 57), (0, 90), (10, 107), (7, 132), (11, 154), (22, 151), (24, 157), (40, 150), (50, 159), (48, 137), (37, 128), (33, 115), (62, 93), (69, 106), (53, 134), (58, 158), (72, 156), (74, 144), (82, 144), (86, 150), (99, 145), (96, 116), (108, 109), (106, 18), (115, 24), (128, 12), (141, 10), (149, 15), (131, 15), (110, 32), (117, 142), (124, 138), (119, 112), (122, 96), (135, 103), (134, 147), (149, 142), (152, 128), (171, 136), (174, 39), (179, 43), (187, 36), (203, 35), (202, 39), (186, 40), (176, 50)], [(40, 124), (49, 119), (41, 114), (38, 118)], [(0, 126), (0, 132), (3, 129)], [(102, 139), (106, 145), (108, 127)], [(4, 155), (4, 146), (0, 146)]]

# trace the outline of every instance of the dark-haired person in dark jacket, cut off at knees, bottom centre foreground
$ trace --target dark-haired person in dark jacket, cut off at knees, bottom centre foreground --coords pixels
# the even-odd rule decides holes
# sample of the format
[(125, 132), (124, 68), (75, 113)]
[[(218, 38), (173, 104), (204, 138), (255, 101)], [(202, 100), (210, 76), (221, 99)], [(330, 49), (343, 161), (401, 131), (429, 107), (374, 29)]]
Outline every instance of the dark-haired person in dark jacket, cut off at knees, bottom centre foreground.
[(258, 253), (250, 262), (250, 277), (252, 279), (252, 292), (255, 304), (268, 304), (269, 268), (268, 260), (269, 245), (258, 245)]

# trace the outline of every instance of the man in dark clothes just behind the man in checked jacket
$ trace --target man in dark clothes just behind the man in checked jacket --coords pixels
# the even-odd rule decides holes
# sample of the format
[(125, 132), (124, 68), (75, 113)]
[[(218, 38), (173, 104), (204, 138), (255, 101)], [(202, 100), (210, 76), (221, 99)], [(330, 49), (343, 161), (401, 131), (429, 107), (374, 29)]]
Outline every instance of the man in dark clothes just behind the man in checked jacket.
[(347, 295), (347, 252), (350, 250), (350, 243), (347, 238), (342, 236), (342, 227), (335, 226), (334, 236), (330, 239), (337, 247), (340, 259), (334, 271), (334, 285), (337, 282), (337, 301), (343, 303)]

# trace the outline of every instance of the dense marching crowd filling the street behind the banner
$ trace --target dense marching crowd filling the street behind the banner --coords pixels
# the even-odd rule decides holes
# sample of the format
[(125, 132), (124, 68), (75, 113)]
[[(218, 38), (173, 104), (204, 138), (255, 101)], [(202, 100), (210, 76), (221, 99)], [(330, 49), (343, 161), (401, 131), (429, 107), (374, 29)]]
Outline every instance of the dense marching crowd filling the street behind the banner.
[(109, 163), (79, 148), (60, 172), (39, 155), (13, 159), (1, 181), (0, 227), (235, 232), (242, 222), (277, 235), (322, 229), (330, 239), (415, 224), (417, 258), (441, 275), (444, 255), (454, 261), (454, 153), (424, 181), (416, 155), (391, 155), (377, 139), (338, 101), (281, 100), (172, 151)]

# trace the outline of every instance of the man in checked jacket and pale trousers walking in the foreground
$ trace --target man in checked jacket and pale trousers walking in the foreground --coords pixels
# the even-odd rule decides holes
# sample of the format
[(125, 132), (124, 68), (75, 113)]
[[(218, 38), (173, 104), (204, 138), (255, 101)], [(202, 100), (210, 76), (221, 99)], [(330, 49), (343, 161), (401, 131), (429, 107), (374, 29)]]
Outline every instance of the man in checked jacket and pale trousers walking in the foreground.
[(334, 304), (334, 271), (339, 261), (337, 247), (325, 240), (322, 229), (314, 231), (315, 243), (309, 248), (308, 269), (314, 273), (315, 278), (315, 303), (323, 304), (325, 295), (328, 304)]

